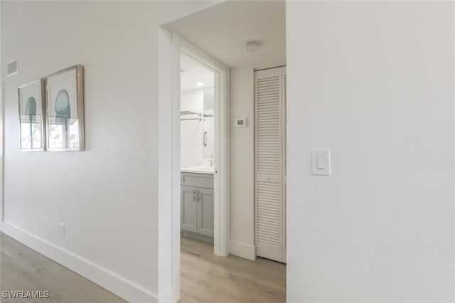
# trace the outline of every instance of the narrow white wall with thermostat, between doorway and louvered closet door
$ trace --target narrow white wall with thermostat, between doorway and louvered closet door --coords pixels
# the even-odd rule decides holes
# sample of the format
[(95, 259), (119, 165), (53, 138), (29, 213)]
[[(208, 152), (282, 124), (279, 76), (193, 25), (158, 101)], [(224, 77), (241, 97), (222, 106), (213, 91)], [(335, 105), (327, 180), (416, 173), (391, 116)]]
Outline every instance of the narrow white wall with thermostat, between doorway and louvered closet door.
[[(230, 70), (230, 252), (255, 259), (255, 72)], [(247, 127), (235, 127), (235, 119)]]

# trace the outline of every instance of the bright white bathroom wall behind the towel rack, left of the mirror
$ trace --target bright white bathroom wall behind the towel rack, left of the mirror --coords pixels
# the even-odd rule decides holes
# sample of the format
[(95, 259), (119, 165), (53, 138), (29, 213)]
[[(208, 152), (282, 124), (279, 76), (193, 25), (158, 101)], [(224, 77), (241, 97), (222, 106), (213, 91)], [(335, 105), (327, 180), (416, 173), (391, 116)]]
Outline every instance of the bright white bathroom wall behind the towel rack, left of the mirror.
[[(181, 111), (203, 112), (203, 90), (181, 92)], [(183, 115), (181, 119), (198, 118), (198, 115)], [(180, 122), (180, 166), (200, 166), (203, 159), (203, 122), (199, 119)]]

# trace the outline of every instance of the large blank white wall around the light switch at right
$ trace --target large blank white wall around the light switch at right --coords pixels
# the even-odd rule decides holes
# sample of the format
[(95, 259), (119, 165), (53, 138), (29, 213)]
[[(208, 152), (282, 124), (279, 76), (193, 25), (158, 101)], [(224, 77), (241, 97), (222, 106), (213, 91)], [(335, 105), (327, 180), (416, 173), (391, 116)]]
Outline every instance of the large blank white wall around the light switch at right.
[(287, 2), (288, 302), (454, 302), (454, 51), (452, 1)]

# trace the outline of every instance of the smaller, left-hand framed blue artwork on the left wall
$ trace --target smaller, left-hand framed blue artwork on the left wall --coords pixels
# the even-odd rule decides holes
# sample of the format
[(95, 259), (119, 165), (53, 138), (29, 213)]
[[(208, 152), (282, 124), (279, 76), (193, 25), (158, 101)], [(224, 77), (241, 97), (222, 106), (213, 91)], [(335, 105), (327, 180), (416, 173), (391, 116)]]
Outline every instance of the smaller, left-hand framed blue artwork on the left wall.
[(44, 150), (43, 80), (18, 87), (21, 151)]

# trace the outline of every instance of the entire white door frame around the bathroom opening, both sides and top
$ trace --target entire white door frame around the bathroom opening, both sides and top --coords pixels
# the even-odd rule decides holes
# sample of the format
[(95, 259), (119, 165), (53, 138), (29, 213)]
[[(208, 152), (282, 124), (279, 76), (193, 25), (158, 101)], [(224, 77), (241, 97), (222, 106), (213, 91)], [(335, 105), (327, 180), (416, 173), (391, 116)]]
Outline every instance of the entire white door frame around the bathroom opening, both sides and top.
[[(208, 65), (219, 81), (215, 108), (214, 253), (229, 255), (229, 68), (175, 33), (159, 28), (158, 301), (180, 299), (180, 52)], [(215, 102), (216, 104), (217, 102)], [(218, 136), (216, 135), (218, 134)], [(218, 139), (217, 139), (218, 137)]]

